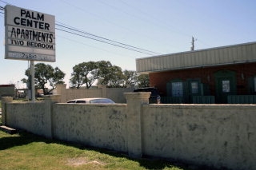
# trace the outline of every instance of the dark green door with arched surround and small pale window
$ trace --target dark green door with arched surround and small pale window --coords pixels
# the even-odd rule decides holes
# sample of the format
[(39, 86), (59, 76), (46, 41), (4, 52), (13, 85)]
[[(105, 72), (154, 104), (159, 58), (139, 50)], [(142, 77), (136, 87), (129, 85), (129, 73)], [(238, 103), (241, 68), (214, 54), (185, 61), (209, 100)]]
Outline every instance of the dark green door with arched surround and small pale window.
[(229, 70), (218, 71), (215, 77), (216, 103), (226, 104), (229, 95), (236, 94), (235, 72)]

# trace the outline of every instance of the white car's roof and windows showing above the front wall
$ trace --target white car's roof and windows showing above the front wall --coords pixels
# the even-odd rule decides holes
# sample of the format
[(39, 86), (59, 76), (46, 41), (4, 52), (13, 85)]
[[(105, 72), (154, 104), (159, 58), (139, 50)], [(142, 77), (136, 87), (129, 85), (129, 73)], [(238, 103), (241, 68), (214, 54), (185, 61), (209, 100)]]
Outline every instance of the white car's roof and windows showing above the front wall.
[(71, 101), (67, 101), (67, 103), (85, 103), (85, 104), (114, 104), (114, 101), (112, 101), (109, 98), (81, 98), (81, 99), (74, 99)]

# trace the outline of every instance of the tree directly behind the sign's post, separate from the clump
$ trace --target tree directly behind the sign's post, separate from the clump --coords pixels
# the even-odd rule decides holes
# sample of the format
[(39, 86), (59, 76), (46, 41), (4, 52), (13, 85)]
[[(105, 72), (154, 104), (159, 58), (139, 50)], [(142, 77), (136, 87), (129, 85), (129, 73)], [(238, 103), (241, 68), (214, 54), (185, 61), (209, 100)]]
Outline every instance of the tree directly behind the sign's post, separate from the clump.
[[(28, 79), (23, 78), (23, 82), (30, 82), (30, 70), (26, 69), (25, 75)], [(42, 89), (44, 94), (50, 93), (56, 88), (57, 84), (64, 84), (65, 73), (58, 67), (53, 68), (51, 65), (38, 63), (34, 65), (34, 84), (37, 89)], [(50, 91), (46, 92), (46, 84), (52, 87)], [(28, 83), (30, 84), (30, 83)], [(29, 85), (30, 86), (30, 85)], [(30, 87), (29, 87), (30, 88)]]

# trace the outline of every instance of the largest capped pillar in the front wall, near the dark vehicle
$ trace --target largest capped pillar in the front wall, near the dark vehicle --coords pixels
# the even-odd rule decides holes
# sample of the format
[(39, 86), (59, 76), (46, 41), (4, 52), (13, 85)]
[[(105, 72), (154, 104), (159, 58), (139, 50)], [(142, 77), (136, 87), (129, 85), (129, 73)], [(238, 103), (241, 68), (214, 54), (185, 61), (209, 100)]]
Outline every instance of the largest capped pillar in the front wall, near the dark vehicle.
[(149, 104), (150, 92), (124, 93), (127, 101), (128, 154), (142, 157), (142, 105)]

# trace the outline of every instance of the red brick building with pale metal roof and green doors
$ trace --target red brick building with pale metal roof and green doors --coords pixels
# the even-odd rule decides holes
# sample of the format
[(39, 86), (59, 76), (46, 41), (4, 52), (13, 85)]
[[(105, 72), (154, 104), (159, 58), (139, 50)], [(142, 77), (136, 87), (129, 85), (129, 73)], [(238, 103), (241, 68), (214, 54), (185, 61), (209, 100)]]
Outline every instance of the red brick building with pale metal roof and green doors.
[(256, 103), (256, 42), (136, 59), (163, 103)]

